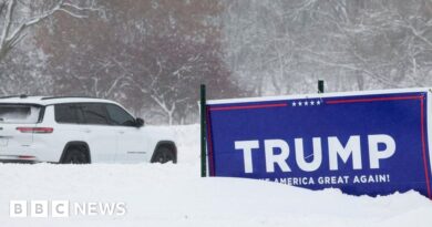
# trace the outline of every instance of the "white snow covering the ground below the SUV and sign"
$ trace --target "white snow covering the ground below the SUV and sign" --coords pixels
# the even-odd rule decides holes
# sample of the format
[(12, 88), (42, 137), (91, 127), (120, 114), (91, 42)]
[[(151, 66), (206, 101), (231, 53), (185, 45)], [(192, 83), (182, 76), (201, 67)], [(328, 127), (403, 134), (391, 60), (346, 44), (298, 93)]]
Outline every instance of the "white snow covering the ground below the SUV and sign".
[[(200, 178), (198, 126), (174, 128), (177, 165), (0, 164), (0, 226), (415, 226), (432, 202), (416, 193), (371, 198), (275, 183)], [(124, 215), (11, 218), (10, 200), (124, 203)]]

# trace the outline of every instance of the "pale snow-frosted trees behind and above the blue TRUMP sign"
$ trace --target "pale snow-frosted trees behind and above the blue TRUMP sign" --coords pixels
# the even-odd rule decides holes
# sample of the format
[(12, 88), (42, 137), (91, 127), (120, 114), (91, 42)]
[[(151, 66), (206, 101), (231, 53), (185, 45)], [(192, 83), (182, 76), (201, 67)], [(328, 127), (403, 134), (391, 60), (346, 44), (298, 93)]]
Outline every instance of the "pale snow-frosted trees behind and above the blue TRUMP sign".
[(225, 60), (257, 95), (432, 83), (430, 1), (224, 2)]

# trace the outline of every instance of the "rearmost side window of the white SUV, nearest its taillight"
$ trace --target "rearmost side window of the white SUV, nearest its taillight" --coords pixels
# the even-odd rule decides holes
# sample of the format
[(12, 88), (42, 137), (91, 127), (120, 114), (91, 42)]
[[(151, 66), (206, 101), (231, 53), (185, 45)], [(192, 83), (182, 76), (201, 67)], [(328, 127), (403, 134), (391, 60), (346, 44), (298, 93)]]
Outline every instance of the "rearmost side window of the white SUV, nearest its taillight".
[(78, 104), (56, 104), (54, 105), (55, 122), (79, 124), (83, 121), (82, 112)]

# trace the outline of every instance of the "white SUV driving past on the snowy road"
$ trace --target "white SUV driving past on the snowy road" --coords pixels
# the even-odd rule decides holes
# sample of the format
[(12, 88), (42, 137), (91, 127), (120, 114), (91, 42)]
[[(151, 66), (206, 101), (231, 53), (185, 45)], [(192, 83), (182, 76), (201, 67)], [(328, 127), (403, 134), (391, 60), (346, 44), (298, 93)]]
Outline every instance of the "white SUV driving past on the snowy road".
[(171, 133), (143, 124), (107, 100), (0, 97), (0, 162), (176, 163)]

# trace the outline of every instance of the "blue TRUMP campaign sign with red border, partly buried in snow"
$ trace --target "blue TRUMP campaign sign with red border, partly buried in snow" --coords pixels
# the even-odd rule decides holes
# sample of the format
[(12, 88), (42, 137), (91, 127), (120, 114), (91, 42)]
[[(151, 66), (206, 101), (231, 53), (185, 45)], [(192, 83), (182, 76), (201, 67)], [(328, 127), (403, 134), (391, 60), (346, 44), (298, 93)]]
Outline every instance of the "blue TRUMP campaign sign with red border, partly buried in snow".
[(432, 198), (428, 93), (209, 102), (210, 176)]

